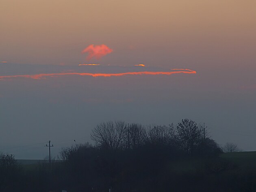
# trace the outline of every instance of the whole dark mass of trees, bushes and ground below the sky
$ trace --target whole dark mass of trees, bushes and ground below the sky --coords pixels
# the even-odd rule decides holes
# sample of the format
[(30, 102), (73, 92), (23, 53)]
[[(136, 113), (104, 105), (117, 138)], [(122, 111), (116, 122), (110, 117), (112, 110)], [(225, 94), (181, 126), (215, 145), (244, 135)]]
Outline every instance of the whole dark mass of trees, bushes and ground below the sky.
[(0, 192), (256, 191), (256, 158), (234, 161), (189, 119), (146, 128), (109, 121), (97, 125), (91, 138), (95, 145), (64, 148), (63, 162), (51, 165), (26, 168), (2, 154)]

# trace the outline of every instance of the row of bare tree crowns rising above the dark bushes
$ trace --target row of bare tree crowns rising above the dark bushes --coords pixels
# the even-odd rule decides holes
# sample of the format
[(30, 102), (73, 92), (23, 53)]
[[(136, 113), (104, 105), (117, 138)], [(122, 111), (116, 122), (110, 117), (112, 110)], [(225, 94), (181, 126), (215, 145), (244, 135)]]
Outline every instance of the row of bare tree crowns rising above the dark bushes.
[[(95, 146), (106, 150), (136, 149), (145, 144), (169, 145), (187, 154), (215, 155), (221, 152), (219, 145), (195, 121), (182, 119), (174, 126), (127, 124), (124, 121), (108, 121), (98, 124), (91, 131)], [(204, 149), (207, 148), (207, 149)], [(210, 149), (211, 148), (211, 149)]]

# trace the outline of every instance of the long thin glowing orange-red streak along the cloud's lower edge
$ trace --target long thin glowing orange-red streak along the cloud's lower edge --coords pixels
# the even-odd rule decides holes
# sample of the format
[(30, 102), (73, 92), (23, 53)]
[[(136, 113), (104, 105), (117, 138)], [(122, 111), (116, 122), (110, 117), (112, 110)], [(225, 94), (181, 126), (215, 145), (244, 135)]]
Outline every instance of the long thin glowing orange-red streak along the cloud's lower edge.
[[(44, 77), (65, 76), (65, 75), (78, 75), (78, 76), (92, 76), (92, 77), (119, 77), (124, 75), (171, 75), (174, 73), (196, 73), (196, 71), (190, 69), (174, 69), (176, 71), (140, 71), (140, 72), (126, 72), (126, 73), (40, 73), (34, 75), (13, 75), (13, 76), (0, 76), (0, 79), (4, 78), (31, 78), (42, 79)], [(180, 70), (180, 71), (178, 71)]]

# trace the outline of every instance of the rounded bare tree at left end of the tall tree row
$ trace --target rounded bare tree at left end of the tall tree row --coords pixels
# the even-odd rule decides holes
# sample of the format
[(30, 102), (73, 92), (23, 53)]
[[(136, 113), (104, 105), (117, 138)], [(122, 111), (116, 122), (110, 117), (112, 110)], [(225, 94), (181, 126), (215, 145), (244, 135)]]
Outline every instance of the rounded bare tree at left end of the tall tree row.
[(91, 139), (98, 147), (111, 150), (121, 149), (124, 147), (127, 129), (124, 121), (102, 122), (91, 131)]

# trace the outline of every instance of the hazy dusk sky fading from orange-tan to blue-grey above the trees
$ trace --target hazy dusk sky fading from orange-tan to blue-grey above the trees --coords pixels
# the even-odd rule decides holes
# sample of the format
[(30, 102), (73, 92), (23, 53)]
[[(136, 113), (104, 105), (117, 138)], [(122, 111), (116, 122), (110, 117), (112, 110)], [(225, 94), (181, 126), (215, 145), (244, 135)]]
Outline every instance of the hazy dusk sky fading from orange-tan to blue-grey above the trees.
[(254, 0), (0, 4), (0, 151), (43, 159), (102, 121), (185, 118), (256, 150)]

